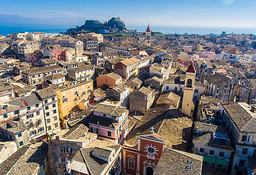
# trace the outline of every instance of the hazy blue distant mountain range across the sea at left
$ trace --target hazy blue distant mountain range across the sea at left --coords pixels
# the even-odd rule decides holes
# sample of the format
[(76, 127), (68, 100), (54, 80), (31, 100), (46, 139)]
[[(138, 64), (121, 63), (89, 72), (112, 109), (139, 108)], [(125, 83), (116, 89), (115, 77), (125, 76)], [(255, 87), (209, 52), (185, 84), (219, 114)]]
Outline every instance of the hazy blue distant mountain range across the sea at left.
[(28, 24), (83, 24), (86, 19), (77, 18), (27, 18), (20, 15), (0, 14), (0, 23), (28, 23)]

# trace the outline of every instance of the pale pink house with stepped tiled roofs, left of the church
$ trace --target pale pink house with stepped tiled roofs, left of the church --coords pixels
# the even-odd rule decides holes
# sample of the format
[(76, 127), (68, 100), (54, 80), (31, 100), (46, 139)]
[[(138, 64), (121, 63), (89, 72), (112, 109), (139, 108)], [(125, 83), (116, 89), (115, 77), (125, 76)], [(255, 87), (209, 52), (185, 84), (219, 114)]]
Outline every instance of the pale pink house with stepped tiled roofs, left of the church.
[(89, 121), (90, 132), (98, 134), (98, 139), (122, 144), (128, 135), (128, 113), (126, 107), (99, 103)]

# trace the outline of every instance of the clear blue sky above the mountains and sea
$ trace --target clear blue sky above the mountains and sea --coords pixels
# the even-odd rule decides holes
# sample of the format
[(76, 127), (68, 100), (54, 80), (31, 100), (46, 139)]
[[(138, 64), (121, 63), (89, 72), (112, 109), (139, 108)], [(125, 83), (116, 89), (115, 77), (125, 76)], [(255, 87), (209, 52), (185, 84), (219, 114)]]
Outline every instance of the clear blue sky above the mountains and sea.
[(126, 25), (256, 27), (256, 0), (1, 0), (0, 14), (82, 17)]

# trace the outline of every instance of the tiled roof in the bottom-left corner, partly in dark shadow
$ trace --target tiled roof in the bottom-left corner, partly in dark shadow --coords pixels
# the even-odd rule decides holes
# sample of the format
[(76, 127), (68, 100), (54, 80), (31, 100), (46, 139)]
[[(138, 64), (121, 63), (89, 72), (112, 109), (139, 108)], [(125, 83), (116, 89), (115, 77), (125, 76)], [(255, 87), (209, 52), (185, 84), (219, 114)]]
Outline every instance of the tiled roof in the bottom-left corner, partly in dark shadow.
[[(10, 168), (6, 175), (34, 175), (47, 151), (48, 144), (46, 142), (30, 145), (29, 149), (23, 152), (24, 154), (12, 165), (12, 168)], [(19, 152), (19, 150), (16, 152)], [(11, 156), (8, 159), (10, 158), (12, 159), (13, 157)], [(8, 161), (8, 159), (6, 161)], [(13, 162), (13, 160), (11, 162)]]

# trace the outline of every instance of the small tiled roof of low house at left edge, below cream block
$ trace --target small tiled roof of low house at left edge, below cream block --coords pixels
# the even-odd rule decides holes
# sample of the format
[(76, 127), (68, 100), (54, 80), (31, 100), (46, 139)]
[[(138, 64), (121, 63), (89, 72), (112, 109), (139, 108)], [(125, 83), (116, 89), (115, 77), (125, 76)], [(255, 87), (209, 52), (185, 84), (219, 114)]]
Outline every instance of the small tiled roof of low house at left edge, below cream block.
[[(13, 128), (8, 124), (16, 123), (17, 126), (14, 126)], [(8, 120), (7, 122), (0, 125), (1, 128), (6, 129), (9, 132), (12, 132), (14, 134), (23, 132), (27, 129), (25, 123), (23, 121), (20, 121), (19, 119), (14, 120)]]

